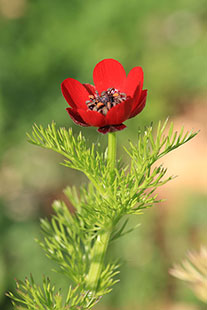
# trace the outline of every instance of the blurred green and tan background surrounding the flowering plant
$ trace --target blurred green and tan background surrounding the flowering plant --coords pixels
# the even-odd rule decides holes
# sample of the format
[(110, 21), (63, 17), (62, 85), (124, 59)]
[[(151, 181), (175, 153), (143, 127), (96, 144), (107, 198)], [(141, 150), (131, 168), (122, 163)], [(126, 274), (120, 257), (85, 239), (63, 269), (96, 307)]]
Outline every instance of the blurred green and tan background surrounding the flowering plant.
[[(65, 112), (60, 83), (67, 77), (92, 83), (103, 58), (126, 71), (144, 69), (147, 106), (118, 135), (119, 155), (139, 126), (170, 116), (176, 129), (201, 129), (164, 164), (179, 178), (160, 190), (167, 201), (133, 217), (141, 226), (118, 241), (111, 254), (122, 258), (121, 282), (96, 309), (204, 309), (190, 290), (168, 274), (188, 249), (207, 243), (206, 55), (207, 11), (201, 0), (0, 0), (0, 309), (14, 278), (49, 275), (57, 287), (67, 279), (51, 272), (34, 238), (39, 218), (66, 185), (85, 182), (59, 166), (60, 157), (26, 142), (34, 122), (80, 130), (106, 145), (94, 128), (80, 128)], [(127, 159), (126, 159), (127, 160)]]

